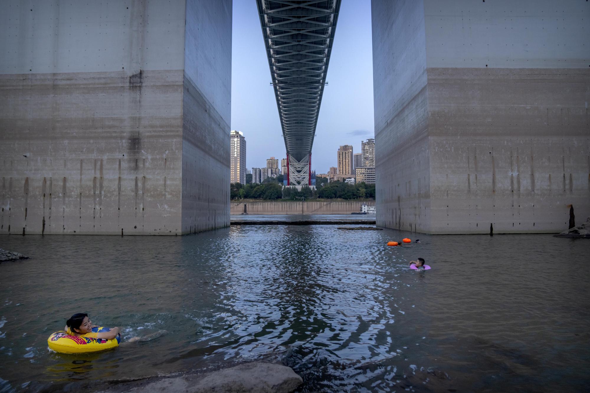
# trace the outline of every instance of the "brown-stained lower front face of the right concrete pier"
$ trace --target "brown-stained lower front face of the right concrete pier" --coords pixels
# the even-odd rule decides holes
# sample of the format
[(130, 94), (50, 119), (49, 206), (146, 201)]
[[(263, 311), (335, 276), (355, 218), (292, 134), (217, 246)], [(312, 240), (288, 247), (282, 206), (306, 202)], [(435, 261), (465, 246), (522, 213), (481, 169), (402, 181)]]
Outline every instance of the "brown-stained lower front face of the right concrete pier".
[(558, 232), (570, 205), (590, 214), (588, 70), (429, 68), (428, 85), (432, 232)]

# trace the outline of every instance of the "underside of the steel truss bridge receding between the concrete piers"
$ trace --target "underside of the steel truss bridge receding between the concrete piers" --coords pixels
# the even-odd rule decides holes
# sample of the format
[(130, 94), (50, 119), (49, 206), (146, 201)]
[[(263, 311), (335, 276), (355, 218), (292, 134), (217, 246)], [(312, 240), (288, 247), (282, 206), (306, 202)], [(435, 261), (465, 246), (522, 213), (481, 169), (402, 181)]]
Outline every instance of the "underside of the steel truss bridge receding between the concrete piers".
[(256, 0), (287, 149), (287, 185), (309, 185), (341, 0)]

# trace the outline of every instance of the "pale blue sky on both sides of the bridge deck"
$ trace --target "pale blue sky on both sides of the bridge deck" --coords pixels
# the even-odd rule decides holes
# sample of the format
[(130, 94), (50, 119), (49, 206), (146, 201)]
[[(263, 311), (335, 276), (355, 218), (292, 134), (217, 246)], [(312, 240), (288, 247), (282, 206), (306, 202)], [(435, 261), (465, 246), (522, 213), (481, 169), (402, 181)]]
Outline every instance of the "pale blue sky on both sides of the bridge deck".
[[(234, 0), (232, 35), (231, 129), (246, 138), (247, 167), (285, 158), (277, 103), (270, 86), (260, 19), (254, 0)], [(312, 169), (336, 166), (336, 150), (373, 137), (373, 59), (371, 2), (343, 0), (313, 142)]]

